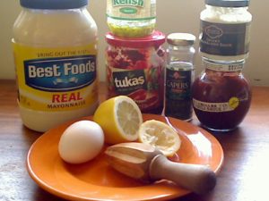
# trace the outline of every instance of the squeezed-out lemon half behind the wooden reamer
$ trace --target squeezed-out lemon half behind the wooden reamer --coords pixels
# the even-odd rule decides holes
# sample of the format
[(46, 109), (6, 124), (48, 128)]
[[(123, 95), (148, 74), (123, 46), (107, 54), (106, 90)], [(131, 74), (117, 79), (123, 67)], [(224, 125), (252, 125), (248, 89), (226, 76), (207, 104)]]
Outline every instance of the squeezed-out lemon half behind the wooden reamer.
[(178, 132), (162, 121), (144, 121), (138, 130), (138, 139), (142, 143), (157, 147), (163, 155), (174, 155), (180, 145), (181, 140)]

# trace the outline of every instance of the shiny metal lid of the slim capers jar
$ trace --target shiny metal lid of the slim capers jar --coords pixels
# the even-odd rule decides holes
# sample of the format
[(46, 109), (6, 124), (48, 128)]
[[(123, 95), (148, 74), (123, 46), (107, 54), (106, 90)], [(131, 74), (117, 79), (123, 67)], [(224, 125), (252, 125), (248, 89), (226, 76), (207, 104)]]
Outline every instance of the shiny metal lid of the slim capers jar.
[(193, 46), (195, 39), (195, 36), (189, 33), (171, 33), (167, 42), (172, 46)]

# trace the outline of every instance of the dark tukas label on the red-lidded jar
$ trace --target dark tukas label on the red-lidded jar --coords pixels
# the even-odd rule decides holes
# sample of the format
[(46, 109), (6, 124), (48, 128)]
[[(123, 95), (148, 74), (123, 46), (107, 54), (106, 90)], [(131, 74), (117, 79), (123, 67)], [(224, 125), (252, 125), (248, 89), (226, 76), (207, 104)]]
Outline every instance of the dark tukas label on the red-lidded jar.
[(107, 72), (108, 96), (129, 96), (143, 112), (162, 106), (159, 67), (125, 70), (107, 66)]

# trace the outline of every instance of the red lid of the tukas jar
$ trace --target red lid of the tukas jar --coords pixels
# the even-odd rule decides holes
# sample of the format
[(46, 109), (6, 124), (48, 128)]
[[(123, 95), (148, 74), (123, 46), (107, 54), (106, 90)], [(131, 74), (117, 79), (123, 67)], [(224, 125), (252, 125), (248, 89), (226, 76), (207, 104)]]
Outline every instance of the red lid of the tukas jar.
[(165, 35), (158, 30), (155, 30), (152, 35), (143, 38), (118, 38), (108, 32), (106, 40), (112, 46), (125, 46), (131, 48), (143, 48), (149, 46), (161, 46), (165, 42)]

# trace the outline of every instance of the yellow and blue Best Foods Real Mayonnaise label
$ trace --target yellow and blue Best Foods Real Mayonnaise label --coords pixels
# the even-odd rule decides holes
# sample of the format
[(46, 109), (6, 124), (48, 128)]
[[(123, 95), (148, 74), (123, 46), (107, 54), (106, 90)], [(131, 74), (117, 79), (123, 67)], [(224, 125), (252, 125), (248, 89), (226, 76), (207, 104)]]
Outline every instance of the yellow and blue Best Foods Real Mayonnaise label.
[(18, 100), (36, 111), (72, 111), (98, 101), (95, 45), (32, 47), (13, 43)]

